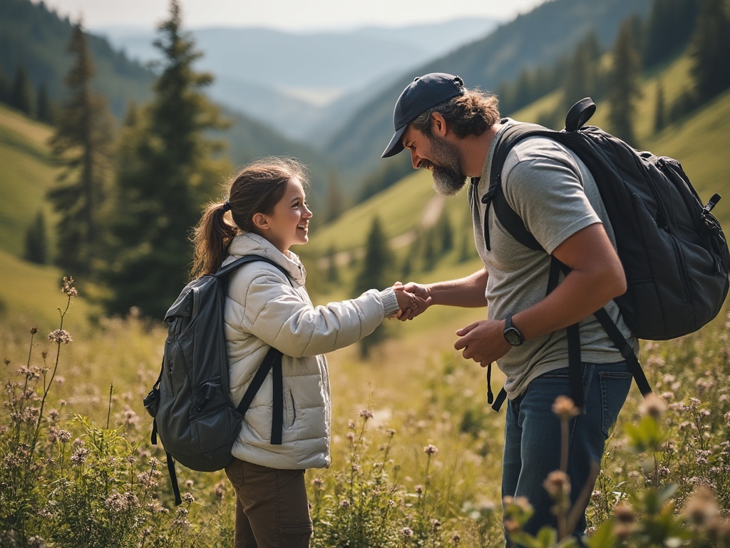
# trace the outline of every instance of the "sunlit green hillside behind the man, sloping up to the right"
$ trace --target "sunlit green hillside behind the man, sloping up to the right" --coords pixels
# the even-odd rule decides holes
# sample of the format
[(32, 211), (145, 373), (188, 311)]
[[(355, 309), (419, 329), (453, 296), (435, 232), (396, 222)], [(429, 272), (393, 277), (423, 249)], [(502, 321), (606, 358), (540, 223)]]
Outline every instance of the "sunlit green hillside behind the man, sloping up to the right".
[[(682, 163), (701, 199), (706, 201), (715, 192), (726, 196), (713, 213), (728, 231), (730, 168), (726, 161), (726, 151), (730, 145), (730, 91), (684, 121), (668, 126), (658, 135), (649, 136), (656, 101), (656, 82), (661, 80), (664, 83), (667, 99), (671, 101), (683, 91), (681, 86), (687, 81), (688, 66), (688, 58), (681, 57), (645, 80), (645, 91), (638, 108), (640, 118), (637, 121), (637, 134), (642, 148), (672, 156)], [(550, 112), (554, 108), (557, 100), (555, 95), (545, 96), (515, 113), (514, 118), (520, 121), (537, 121), (543, 111)], [(607, 126), (608, 105), (598, 102), (597, 107), (596, 115), (589, 123)], [(312, 235), (307, 255), (321, 256), (334, 249), (337, 252), (351, 251), (357, 256), (356, 249), (364, 245), (370, 223), (376, 215), (382, 221), (385, 234), (397, 244), (404, 239), (404, 235), (423, 226), (423, 210), (435, 199), (436, 194), (431, 188), (431, 174), (425, 170), (414, 172), (390, 189), (347, 211), (333, 224), (318, 229)], [(456, 197), (446, 199), (445, 207), (450, 213), (453, 226), (463, 226), (464, 216), (469, 216), (464, 191)], [(401, 256), (404, 252), (405, 250), (401, 250)], [(429, 273), (429, 278), (437, 279), (439, 275), (447, 274), (447, 271), (465, 275), (480, 265), (478, 260), (446, 266), (448, 263), (442, 261), (442, 266)]]

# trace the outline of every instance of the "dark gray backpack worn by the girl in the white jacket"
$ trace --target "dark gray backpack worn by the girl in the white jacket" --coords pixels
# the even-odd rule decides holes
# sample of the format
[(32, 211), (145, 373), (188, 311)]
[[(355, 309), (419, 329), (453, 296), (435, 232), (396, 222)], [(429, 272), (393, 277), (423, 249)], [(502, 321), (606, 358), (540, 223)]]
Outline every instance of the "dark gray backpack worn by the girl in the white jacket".
[(180, 504), (174, 461), (201, 472), (225, 468), (241, 421), (253, 397), (272, 371), (274, 405), (271, 443), (282, 443), (282, 354), (272, 346), (239, 406), (230, 396), (223, 311), (228, 278), (238, 267), (264, 261), (288, 273), (275, 262), (246, 255), (188, 283), (165, 315), (168, 333), (160, 376), (145, 397), (145, 408), (154, 417), (152, 443), (157, 435), (167, 456), (175, 503)]

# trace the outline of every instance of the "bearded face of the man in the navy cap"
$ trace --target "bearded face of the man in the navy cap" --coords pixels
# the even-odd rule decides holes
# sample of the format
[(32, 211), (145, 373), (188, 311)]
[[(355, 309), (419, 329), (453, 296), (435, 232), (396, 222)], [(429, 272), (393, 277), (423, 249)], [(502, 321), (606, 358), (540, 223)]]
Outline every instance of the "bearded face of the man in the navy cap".
[(464, 188), (464, 161), (461, 151), (443, 137), (426, 135), (412, 127), (403, 134), (403, 146), (411, 153), (413, 167), (425, 167), (434, 177), (434, 189), (443, 196), (453, 196)]

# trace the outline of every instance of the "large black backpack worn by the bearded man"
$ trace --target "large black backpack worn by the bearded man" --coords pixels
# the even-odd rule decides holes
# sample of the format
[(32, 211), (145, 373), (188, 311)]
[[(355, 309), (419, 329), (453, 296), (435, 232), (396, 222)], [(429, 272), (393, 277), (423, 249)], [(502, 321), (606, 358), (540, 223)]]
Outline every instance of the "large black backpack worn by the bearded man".
[[(515, 124), (502, 132), (491, 164), (488, 191), (481, 198), (487, 205), (487, 249), (490, 204), (499, 222), (518, 242), (542, 249), (507, 204), (502, 191), (502, 167), (517, 142), (527, 137), (549, 137), (575, 153), (596, 180), (628, 284), (626, 293), (615, 302), (631, 332), (648, 340), (695, 332), (717, 316), (730, 285), (726, 238), (710, 213), (720, 196), (713, 195), (703, 205), (675, 159), (636, 151), (602, 129), (584, 126), (595, 111), (593, 101), (585, 98), (569, 110), (565, 129), (560, 132), (531, 123)], [(472, 181), (473, 192), (476, 183)], [(559, 274), (567, 271), (552, 258), (548, 293), (557, 286)], [(633, 349), (604, 309), (595, 316), (621, 350), (639, 390), (646, 395), (651, 389)], [(568, 328), (568, 347), (571, 395), (582, 406), (577, 324)], [(502, 389), (494, 408), (499, 409), (505, 395)]]

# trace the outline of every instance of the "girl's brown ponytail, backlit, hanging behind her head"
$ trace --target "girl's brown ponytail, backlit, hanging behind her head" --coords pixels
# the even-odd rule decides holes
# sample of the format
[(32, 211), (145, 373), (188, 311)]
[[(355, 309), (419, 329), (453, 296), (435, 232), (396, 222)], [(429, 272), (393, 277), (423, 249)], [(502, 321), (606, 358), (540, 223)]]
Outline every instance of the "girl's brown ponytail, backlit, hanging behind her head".
[(238, 234), (238, 227), (230, 221), (228, 202), (210, 204), (193, 231), (195, 259), (191, 277), (215, 273), (226, 259), (228, 243)]

